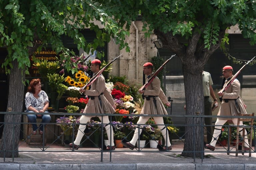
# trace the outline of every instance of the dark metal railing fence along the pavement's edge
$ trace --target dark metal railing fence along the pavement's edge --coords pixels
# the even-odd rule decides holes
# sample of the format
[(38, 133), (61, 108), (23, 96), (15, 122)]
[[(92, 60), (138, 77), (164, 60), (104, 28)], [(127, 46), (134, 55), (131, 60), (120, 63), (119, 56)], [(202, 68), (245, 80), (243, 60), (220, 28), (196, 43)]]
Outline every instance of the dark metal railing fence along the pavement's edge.
[[(15, 114), (20, 114), (20, 115), (26, 115), (27, 113), (26, 112), (0, 112), (0, 114), (12, 114), (12, 115), (15, 115)], [(37, 113), (29, 113), (29, 114), (37, 114)], [(113, 126), (114, 124), (113, 124), (113, 122), (112, 122), (112, 120), (113, 120), (113, 118), (115, 117), (115, 116), (124, 116), (124, 114), (93, 114), (93, 113), (86, 113), (86, 114), (84, 114), (84, 113), (52, 113), (52, 112), (49, 112), (49, 113), (40, 113), (40, 114), (49, 114), (49, 115), (58, 115), (58, 116), (60, 116), (60, 115), (65, 115), (65, 116), (70, 116), (70, 115), (76, 115), (76, 116), (82, 116), (82, 115), (86, 115), (86, 116), (91, 116), (91, 117), (95, 117), (95, 116), (97, 116), (97, 117), (99, 117), (99, 119), (100, 120), (102, 120), (102, 118), (103, 118), (103, 116), (109, 116), (109, 121), (110, 121), (110, 125), (111, 126)], [(150, 117), (180, 117), (181, 119), (182, 118), (193, 118), (193, 122), (196, 122), (195, 120), (196, 119), (198, 119), (198, 118), (200, 118), (201, 119), (201, 124), (196, 124), (196, 123), (192, 123), (192, 124), (132, 124), (132, 125), (135, 125), (136, 127), (137, 126), (141, 126), (141, 127), (143, 127), (144, 125), (164, 125), (166, 128), (166, 132), (167, 132), (167, 130), (168, 130), (168, 126), (175, 126), (175, 127), (177, 127), (177, 128), (181, 128), (181, 127), (189, 127), (189, 128), (193, 128), (193, 148), (190, 148), (190, 150), (189, 151), (182, 151), (182, 152), (187, 152), (187, 153), (193, 153), (194, 154), (194, 161), (195, 161), (195, 158), (196, 158), (196, 153), (200, 153), (201, 154), (201, 159), (202, 159), (202, 162), (203, 162), (203, 155), (204, 155), (204, 153), (208, 153), (208, 152), (212, 152), (212, 151), (210, 151), (210, 150), (204, 150), (204, 134), (205, 134), (205, 132), (206, 133), (208, 133), (207, 131), (206, 131), (206, 126), (212, 126), (212, 127), (214, 127), (214, 124), (213, 125), (204, 125), (203, 124), (203, 120), (204, 120), (204, 118), (205, 117), (212, 117), (212, 118), (227, 118), (227, 119), (231, 119), (231, 117), (230, 116), (209, 116), (209, 115), (148, 115), (148, 114), (125, 114), (125, 116), (147, 116), (148, 118), (150, 118)], [(14, 116), (13, 116), (14, 117)], [(238, 117), (240, 117), (240, 118), (254, 118), (253, 116), (232, 116), (232, 118), (238, 118)], [(1, 140), (1, 142), (3, 142), (2, 144), (3, 144), (3, 149), (2, 150), (0, 150), (0, 152), (3, 152), (4, 154), (4, 156), (3, 156), (3, 159), (4, 159), (4, 162), (5, 162), (5, 153), (6, 152), (12, 152), (13, 154), (13, 157), (12, 157), (12, 159), (13, 159), (13, 161), (14, 161), (14, 153), (15, 152), (19, 152), (19, 151), (21, 151), (21, 150), (19, 150), (19, 146), (20, 145), (22, 145), (24, 142), (26, 142), (28, 139), (30, 139), (31, 140), (31, 135), (32, 134), (28, 134), (27, 135), (27, 133), (26, 132), (24, 132), (22, 129), (19, 129), (20, 131), (21, 131), (21, 133), (24, 133), (24, 134), (26, 134), (26, 138), (22, 141), (22, 142), (20, 142), (19, 143), (19, 145), (18, 145), (18, 147), (16, 147), (15, 148), (15, 146), (14, 146), (14, 139), (15, 139), (15, 137), (14, 137), (14, 130), (15, 130), (15, 128), (14, 128), (14, 126), (16, 125), (16, 124), (23, 124), (23, 125), (26, 125), (26, 124), (33, 124), (33, 123), (30, 123), (30, 122), (15, 122), (14, 120), (12, 121), (12, 122), (0, 122), (0, 127), (1, 126), (4, 126), (4, 125), (6, 125), (6, 124), (11, 124), (12, 125), (12, 141), (9, 141), (8, 142), (8, 144), (11, 144), (12, 145), (12, 149), (10, 149), (10, 150), (7, 150), (6, 149), (6, 141), (4, 141), (4, 140)], [(34, 124), (38, 124), (38, 123), (34, 123)], [(42, 123), (43, 124), (43, 128), (45, 129), (45, 125), (47, 124), (47, 125), (61, 125), (61, 124), (65, 124), (65, 123), (56, 123), (56, 122), (50, 122), (50, 123)], [(72, 127), (72, 139), (71, 139), (71, 143), (73, 143), (74, 142), (74, 140), (75, 140), (75, 134), (76, 134), (76, 132), (77, 132), (77, 127), (80, 125), (80, 124), (82, 124), (82, 123), (70, 123), (69, 124), (69, 126), (70, 127)], [(92, 123), (84, 123), (83, 125), (92, 125)], [(109, 152), (110, 153), (110, 162), (111, 162), (111, 153), (112, 152), (167, 152), (167, 150), (165, 150), (165, 151), (158, 151), (158, 150), (156, 150), (156, 149), (152, 149), (152, 150), (144, 150), (144, 148), (140, 148), (140, 146), (138, 146), (138, 148), (136, 148), (135, 150), (118, 150), (118, 149), (116, 149), (116, 150), (104, 150), (104, 137), (103, 137), (103, 135), (104, 135), (104, 130), (103, 130), (103, 126), (105, 126), (105, 125), (107, 125), (107, 124), (104, 124), (104, 123), (102, 123), (102, 121), (101, 121), (101, 123), (99, 123), (99, 124), (94, 124), (94, 125), (98, 125), (96, 128), (94, 128), (94, 130), (91, 130), (91, 133), (89, 133), (89, 134), (84, 134), (84, 137), (83, 137), (83, 139), (82, 139), (82, 141), (80, 142), (80, 145), (81, 144), (83, 144), (84, 142), (86, 142), (86, 141), (90, 141), (90, 142), (92, 142), (93, 144), (95, 144), (94, 142), (95, 141), (93, 141), (92, 140), (92, 138), (91, 138), (91, 136), (94, 134), (94, 133), (96, 133), (96, 131), (100, 131), (100, 135), (101, 135), (101, 146), (99, 146), (98, 147), (98, 149), (97, 150), (76, 150), (75, 148), (71, 148), (70, 150), (59, 150), (59, 149), (56, 149), (56, 150), (54, 150), (53, 148), (51, 148), (50, 150), (49, 150), (49, 147), (52, 145), (52, 144), (54, 144), (55, 142), (58, 142), (58, 141), (61, 141), (62, 143), (64, 143), (64, 138), (63, 138), (63, 136), (64, 136), (64, 133), (65, 133), (65, 131), (64, 132), (62, 132), (62, 133), (60, 133), (60, 134), (56, 134), (55, 133), (55, 131), (52, 131), (50, 128), (47, 128), (47, 132), (46, 133), (53, 133), (54, 134), (54, 136), (55, 136), (55, 138), (54, 138), (54, 140), (52, 141), (52, 142), (50, 142), (50, 143), (48, 143), (48, 145), (46, 146), (45, 145), (45, 133), (43, 133), (43, 135), (42, 135), (42, 145), (41, 144), (38, 144), (38, 145), (36, 145), (36, 147), (38, 148), (38, 150), (35, 150), (35, 149), (28, 149), (28, 150), (22, 150), (22, 152), (100, 152), (101, 153), (101, 162), (103, 162), (103, 153), (104, 152)], [(234, 127), (234, 125), (229, 125), (229, 124), (227, 124), (227, 125), (223, 125), (223, 127), (224, 128), (228, 128), (228, 127)], [(253, 124), (253, 125), (251, 125), (252, 127), (253, 127), (253, 141), (252, 141), (252, 143), (254, 144), (254, 147), (252, 147), (252, 153), (256, 153), (255, 152), (255, 144), (256, 144), (256, 140), (255, 140), (255, 125)], [(248, 125), (248, 128), (250, 128), (251, 126), (249, 126)], [(76, 128), (75, 128), (76, 127)], [(195, 138), (195, 133), (196, 133), (196, 131), (195, 131), (195, 127), (200, 127), (200, 133), (202, 133), (202, 138), (200, 139), (201, 140), (201, 146), (200, 146), (200, 148), (201, 148), (201, 150), (199, 150), (199, 151), (197, 151), (196, 150), (196, 138)], [(69, 129), (67, 129), (67, 130), (69, 130)], [(44, 130), (43, 130), (44, 131)], [(134, 131), (134, 130), (133, 130)], [(130, 133), (128, 133), (127, 134), (127, 136), (128, 135), (131, 135), (132, 133), (133, 133), (133, 131), (131, 131)], [(142, 131), (142, 133), (143, 132), (145, 132), (144, 130)], [(114, 128), (113, 128), (113, 131), (111, 130), (110, 131), (110, 134), (112, 134), (112, 133), (114, 133)], [(140, 131), (138, 131), (138, 143), (140, 144)], [(182, 135), (178, 135), (178, 133), (177, 132), (172, 132), (172, 131), (169, 131), (169, 134), (170, 133), (172, 133), (172, 135), (173, 136), (175, 136), (174, 138), (176, 138), (177, 140), (175, 140), (176, 142), (184, 142), (184, 143), (187, 143), (187, 141), (184, 139), (184, 136), (185, 136), (185, 134), (187, 133), (187, 132), (185, 132), (184, 134), (182, 134)], [(230, 133), (230, 131), (229, 131), (229, 128), (228, 128), (228, 133)], [(5, 138), (5, 133), (3, 133), (3, 136), (2, 136), (2, 138)], [(167, 135), (167, 133), (166, 133), (166, 135)], [(124, 137), (124, 140), (127, 140), (127, 136), (125, 136)], [(166, 138), (169, 138), (169, 136), (166, 136)], [(155, 140), (154, 138), (152, 138), (152, 140)], [(198, 139), (197, 139), (198, 140)], [(32, 142), (33, 142), (33, 140), (32, 140)], [(110, 139), (110, 144), (111, 144), (111, 139)], [(33, 143), (35, 143), (36, 144), (36, 142), (33, 142)], [(173, 145), (173, 149), (175, 149), (175, 142), (172, 142), (172, 145)], [(232, 148), (231, 147), (231, 149), (229, 150), (228, 148), (229, 148), (229, 146), (230, 146), (230, 141), (229, 141), (229, 138), (228, 138), (228, 147), (226, 148), (225, 146), (223, 146), (223, 148), (225, 149), (224, 151), (221, 151), (221, 150), (217, 150), (217, 151), (215, 151), (215, 152), (218, 152), (218, 153), (235, 153), (235, 151), (232, 151), (232, 150), (235, 150), (234, 149), (234, 147)], [(167, 148), (167, 147), (166, 147)], [(168, 152), (175, 152), (175, 153), (177, 153), (177, 152), (180, 152), (180, 151), (174, 151), (174, 150), (171, 150), (171, 151), (168, 151)]]

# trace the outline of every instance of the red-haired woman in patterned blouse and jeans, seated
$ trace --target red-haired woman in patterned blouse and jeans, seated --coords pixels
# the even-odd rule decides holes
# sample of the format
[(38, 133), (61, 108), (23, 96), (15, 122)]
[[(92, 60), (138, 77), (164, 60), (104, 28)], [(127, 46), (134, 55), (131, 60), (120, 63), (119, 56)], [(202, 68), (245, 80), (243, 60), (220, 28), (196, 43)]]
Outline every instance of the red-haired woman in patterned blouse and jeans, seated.
[[(28, 92), (25, 96), (25, 105), (27, 108), (26, 112), (36, 112), (39, 114), (27, 114), (28, 121), (30, 123), (36, 123), (37, 117), (42, 117), (42, 123), (49, 123), (51, 121), (51, 117), (49, 114), (40, 114), (44, 112), (48, 112), (47, 109), (49, 107), (49, 99), (45, 91), (41, 90), (41, 80), (33, 79), (29, 83)], [(33, 132), (32, 134), (36, 134), (37, 132), (37, 124), (32, 124)], [(39, 126), (39, 133), (43, 134), (43, 124)]]

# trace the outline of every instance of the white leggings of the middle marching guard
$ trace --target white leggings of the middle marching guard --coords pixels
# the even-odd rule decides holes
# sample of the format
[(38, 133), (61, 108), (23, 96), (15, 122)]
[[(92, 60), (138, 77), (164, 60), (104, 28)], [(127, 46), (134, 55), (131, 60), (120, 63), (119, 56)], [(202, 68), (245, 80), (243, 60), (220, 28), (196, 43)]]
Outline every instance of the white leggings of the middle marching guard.
[[(164, 124), (164, 119), (163, 117), (153, 117), (156, 124)], [(137, 124), (145, 124), (147, 121), (148, 121), (149, 117), (147, 116), (141, 116), (137, 122)], [(140, 126), (143, 126), (143, 125), (140, 125)], [(168, 134), (168, 130), (167, 130), (167, 135), (166, 135), (166, 128), (164, 128), (165, 126), (164, 125), (157, 125), (157, 127), (161, 130), (161, 133), (164, 137), (164, 140), (165, 140), (165, 145), (167, 143), (167, 146), (171, 146), (171, 143), (170, 143), (170, 140), (169, 140), (169, 134)], [(131, 144), (135, 145), (136, 141), (138, 140), (139, 138), (139, 133), (138, 133), (138, 130), (139, 127), (137, 127), (135, 129), (135, 132), (134, 132), (134, 135), (133, 135), (133, 138), (132, 140), (130, 141)], [(141, 134), (141, 131), (142, 129), (140, 128), (140, 134)], [(167, 136), (167, 138), (166, 138)]]

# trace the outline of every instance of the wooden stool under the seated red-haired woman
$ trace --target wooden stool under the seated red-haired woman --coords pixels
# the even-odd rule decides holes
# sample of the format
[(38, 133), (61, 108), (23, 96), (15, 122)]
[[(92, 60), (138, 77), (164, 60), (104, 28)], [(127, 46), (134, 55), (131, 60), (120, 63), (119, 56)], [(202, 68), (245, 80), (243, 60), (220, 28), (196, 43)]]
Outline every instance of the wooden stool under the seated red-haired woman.
[[(36, 122), (37, 123), (41, 123), (41, 121), (42, 121), (42, 118), (40, 118), (40, 117), (36, 118)], [(40, 142), (40, 144), (44, 143), (44, 145), (46, 145), (46, 135), (45, 135), (46, 134), (46, 130), (47, 130), (47, 128), (46, 128), (46, 125), (45, 125), (44, 126), (43, 134), (39, 134), (39, 132), (37, 132), (37, 134), (34, 135), (34, 134), (32, 134), (32, 132), (33, 132), (32, 124), (30, 124), (28, 122), (28, 126), (27, 126), (27, 141), (26, 141), (26, 143), (28, 145), (30, 145), (30, 140), (32, 140), (33, 142)], [(43, 142), (43, 137), (44, 137), (44, 142)]]

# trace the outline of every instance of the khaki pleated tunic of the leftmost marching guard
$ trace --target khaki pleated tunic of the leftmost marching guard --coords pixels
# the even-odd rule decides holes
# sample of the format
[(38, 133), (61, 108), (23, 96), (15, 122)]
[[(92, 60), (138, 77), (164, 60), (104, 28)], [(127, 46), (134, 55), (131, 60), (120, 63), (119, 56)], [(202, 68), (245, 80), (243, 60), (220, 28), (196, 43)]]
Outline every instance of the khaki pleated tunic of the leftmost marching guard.
[[(114, 100), (112, 96), (109, 94), (108, 91), (105, 88), (105, 78), (103, 75), (100, 75), (91, 85), (90, 90), (86, 90), (84, 92), (85, 95), (89, 96), (95, 96), (94, 99), (89, 99), (88, 103), (85, 106), (84, 112), (83, 113), (114, 113), (115, 109), (112, 107), (114, 104)], [(103, 94), (100, 96), (101, 97), (101, 104), (100, 105), (100, 100), (99, 100), (99, 95), (100, 93)], [(107, 98), (105, 97), (107, 96)], [(112, 103), (110, 103), (109, 101)]]

